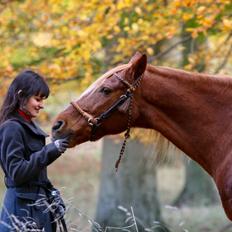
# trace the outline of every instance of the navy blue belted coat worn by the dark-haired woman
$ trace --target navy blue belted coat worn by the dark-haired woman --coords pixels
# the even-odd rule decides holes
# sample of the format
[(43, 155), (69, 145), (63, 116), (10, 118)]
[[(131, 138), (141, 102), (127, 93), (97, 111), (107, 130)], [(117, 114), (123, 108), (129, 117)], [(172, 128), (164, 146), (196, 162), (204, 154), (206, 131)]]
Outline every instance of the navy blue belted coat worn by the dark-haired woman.
[[(0, 164), (7, 186), (0, 218), (1, 232), (16, 231), (14, 224), (26, 221), (33, 221), (46, 232), (56, 231), (45, 202), (50, 194), (47, 186), (51, 185), (47, 166), (60, 153), (53, 143), (45, 145), (46, 136), (35, 123), (20, 115), (0, 126)], [(43, 203), (35, 204), (39, 199)]]

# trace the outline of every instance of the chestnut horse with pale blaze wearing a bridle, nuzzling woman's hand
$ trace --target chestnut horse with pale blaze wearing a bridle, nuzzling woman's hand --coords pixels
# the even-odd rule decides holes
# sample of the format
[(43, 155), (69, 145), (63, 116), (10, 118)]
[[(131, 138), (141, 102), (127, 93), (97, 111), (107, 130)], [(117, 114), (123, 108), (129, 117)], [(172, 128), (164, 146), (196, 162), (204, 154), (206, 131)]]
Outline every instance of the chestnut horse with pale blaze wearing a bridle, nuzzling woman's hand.
[(61, 112), (52, 134), (69, 136), (73, 147), (127, 130), (128, 117), (129, 126), (160, 132), (201, 165), (232, 220), (231, 78), (147, 65), (136, 53)]

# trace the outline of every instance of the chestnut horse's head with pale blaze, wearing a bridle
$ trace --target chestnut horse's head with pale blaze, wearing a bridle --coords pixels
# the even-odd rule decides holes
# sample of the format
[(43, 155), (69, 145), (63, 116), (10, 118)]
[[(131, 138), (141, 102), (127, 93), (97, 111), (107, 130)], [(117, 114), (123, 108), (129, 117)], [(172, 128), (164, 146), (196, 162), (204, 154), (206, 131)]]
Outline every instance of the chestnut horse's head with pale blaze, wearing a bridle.
[[(53, 138), (68, 136), (73, 147), (126, 130), (131, 94), (136, 98), (146, 64), (146, 55), (136, 53), (128, 64), (105, 73), (57, 116), (52, 127)], [(138, 112), (133, 104), (133, 119)]]

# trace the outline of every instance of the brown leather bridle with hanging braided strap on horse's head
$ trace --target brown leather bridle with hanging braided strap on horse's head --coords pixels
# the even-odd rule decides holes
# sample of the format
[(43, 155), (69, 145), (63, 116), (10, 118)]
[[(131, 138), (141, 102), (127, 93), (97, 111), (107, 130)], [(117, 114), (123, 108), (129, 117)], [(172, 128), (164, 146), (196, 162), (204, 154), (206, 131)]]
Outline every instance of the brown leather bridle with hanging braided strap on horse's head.
[(127, 90), (123, 95), (119, 97), (119, 99), (116, 102), (113, 103), (113, 105), (111, 105), (106, 111), (101, 113), (98, 117), (94, 117), (93, 115), (87, 113), (74, 101), (71, 101), (70, 104), (74, 107), (74, 109), (76, 109), (82, 115), (83, 118), (86, 119), (88, 125), (91, 127), (90, 141), (93, 141), (96, 131), (101, 126), (102, 122), (108, 117), (110, 117), (113, 112), (115, 112), (122, 104), (124, 104), (129, 99), (130, 102), (128, 107), (127, 130), (124, 134), (124, 141), (122, 144), (119, 158), (115, 164), (115, 168), (117, 171), (119, 163), (125, 151), (126, 141), (130, 137), (130, 128), (133, 120), (132, 118), (133, 94), (137, 89), (137, 87), (139, 86), (143, 75), (140, 75), (132, 84), (121, 78), (117, 73), (114, 73), (113, 75), (116, 76), (117, 79), (121, 81), (125, 86), (127, 86)]

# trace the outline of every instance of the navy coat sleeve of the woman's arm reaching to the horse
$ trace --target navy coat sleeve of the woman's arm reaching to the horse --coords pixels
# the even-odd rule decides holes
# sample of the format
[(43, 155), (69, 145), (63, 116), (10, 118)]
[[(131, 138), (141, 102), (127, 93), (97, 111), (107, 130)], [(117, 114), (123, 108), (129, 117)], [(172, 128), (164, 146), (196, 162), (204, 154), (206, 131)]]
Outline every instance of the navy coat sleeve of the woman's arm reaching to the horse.
[(61, 155), (55, 145), (50, 143), (30, 154), (29, 160), (26, 160), (23, 128), (15, 122), (4, 125), (0, 135), (2, 165), (16, 185), (29, 181)]

